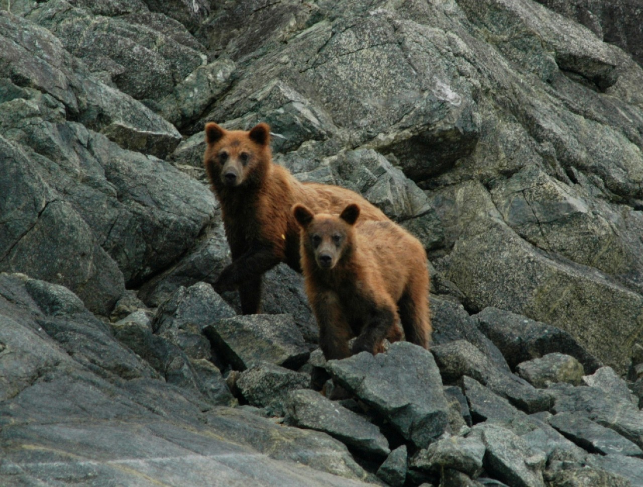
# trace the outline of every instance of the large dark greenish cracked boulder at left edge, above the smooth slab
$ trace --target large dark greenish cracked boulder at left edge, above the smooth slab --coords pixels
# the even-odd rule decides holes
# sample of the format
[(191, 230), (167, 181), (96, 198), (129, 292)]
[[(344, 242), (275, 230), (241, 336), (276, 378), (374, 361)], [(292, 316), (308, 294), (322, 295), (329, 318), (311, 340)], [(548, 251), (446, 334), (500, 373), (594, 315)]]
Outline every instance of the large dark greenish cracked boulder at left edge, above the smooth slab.
[(57, 198), (26, 154), (2, 136), (0, 169), (5, 174), (0, 182), (1, 218), (6, 222), (0, 235), (0, 270), (64, 285), (93, 312), (109, 314), (125, 291), (123, 274), (87, 223)]

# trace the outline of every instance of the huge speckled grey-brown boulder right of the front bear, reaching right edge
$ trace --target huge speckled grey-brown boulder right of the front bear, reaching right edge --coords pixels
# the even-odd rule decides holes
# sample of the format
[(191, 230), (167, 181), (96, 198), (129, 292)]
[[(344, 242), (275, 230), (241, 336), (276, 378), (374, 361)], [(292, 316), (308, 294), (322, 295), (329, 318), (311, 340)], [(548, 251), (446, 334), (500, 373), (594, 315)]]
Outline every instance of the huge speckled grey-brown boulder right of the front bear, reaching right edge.
[[(470, 222), (449, 254), (446, 276), (467, 295), (471, 307), (496, 306), (566, 328), (590, 353), (609, 359), (606, 364), (624, 371), (629, 354), (622, 343), (637, 333), (631, 326), (637, 321), (635, 303), (640, 301), (640, 294), (606, 274), (538, 251), (502, 222), (502, 215), (482, 185), (467, 183), (466, 194), (467, 200), (458, 209), (449, 209), (453, 210), (450, 215), (436, 209), (446, 229), (452, 224), (462, 228)], [(458, 211), (469, 211), (469, 216), (460, 214), (456, 221), (453, 218)], [(501, 247), (507, 258), (489, 258), (491, 249)], [(529, 266), (525, 267), (525, 261)], [(552, 312), (551, 306), (543, 303), (558, 303), (565, 312), (558, 312), (558, 308)], [(606, 321), (619, 326), (610, 328), (609, 338), (597, 339)]]

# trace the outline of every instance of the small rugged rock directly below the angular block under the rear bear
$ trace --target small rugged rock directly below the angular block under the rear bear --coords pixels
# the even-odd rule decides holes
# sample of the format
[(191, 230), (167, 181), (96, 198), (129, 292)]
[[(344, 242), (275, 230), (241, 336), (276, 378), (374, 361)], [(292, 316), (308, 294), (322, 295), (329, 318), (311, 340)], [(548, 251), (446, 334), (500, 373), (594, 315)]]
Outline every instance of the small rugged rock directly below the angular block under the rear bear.
[(271, 414), (284, 416), (290, 405), (289, 392), (311, 384), (308, 374), (295, 372), (268, 362), (244, 370), (235, 385), (249, 404), (265, 407)]

